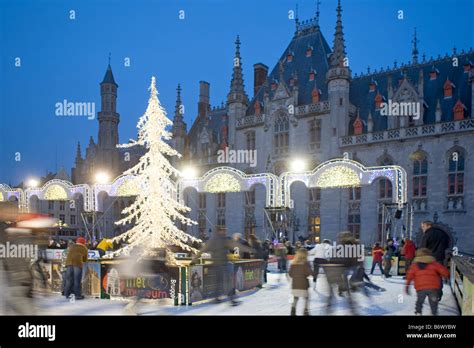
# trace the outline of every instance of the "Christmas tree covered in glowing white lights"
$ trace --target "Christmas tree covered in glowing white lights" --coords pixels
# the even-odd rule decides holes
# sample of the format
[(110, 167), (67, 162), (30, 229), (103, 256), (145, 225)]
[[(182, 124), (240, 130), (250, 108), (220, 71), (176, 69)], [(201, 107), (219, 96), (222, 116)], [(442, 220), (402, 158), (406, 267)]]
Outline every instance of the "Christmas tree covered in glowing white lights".
[(137, 165), (124, 173), (136, 176), (140, 190), (134, 203), (123, 210), (125, 217), (116, 222), (117, 225), (134, 223), (130, 230), (116, 237), (128, 244), (112, 256), (129, 254), (132, 248), (139, 246), (144, 253), (142, 256), (156, 256), (160, 249), (165, 249), (168, 261), (173, 262), (170, 246), (195, 253), (197, 250), (190, 244), (200, 240), (178, 227), (196, 223), (184, 215), (190, 208), (178, 202), (173, 194), (171, 176), (178, 176), (179, 171), (170, 164), (167, 156), (181, 155), (166, 142), (171, 139), (167, 128), (173, 123), (166, 117), (166, 111), (158, 100), (155, 77), (151, 79), (149, 90), (148, 107), (137, 124), (138, 139), (119, 145), (123, 148), (141, 145), (147, 151)]

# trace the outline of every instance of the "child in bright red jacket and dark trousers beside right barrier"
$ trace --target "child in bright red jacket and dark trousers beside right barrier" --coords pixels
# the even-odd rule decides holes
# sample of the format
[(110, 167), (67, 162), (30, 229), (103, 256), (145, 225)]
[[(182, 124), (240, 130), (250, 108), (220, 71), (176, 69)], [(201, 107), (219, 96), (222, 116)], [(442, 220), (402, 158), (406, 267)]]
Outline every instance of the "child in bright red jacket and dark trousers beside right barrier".
[(421, 315), (423, 302), (428, 297), (433, 315), (438, 314), (439, 290), (442, 286), (441, 279), (448, 278), (449, 271), (431, 255), (427, 248), (421, 248), (416, 252), (413, 264), (407, 273), (406, 288), (410, 294), (410, 283), (414, 281), (417, 294), (415, 314)]

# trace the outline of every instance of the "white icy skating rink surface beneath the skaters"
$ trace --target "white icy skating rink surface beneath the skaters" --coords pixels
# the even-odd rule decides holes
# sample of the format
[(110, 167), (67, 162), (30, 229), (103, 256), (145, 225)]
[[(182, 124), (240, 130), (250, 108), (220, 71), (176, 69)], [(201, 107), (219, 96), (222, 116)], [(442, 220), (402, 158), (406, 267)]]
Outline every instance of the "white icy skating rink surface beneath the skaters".
[[(402, 277), (384, 279), (380, 275), (371, 276), (373, 283), (386, 289), (378, 292), (369, 289), (370, 297), (363, 293), (353, 294), (356, 311), (359, 315), (414, 315), (416, 292), (404, 293)], [(311, 286), (312, 286), (311, 282)], [(328, 286), (324, 274), (318, 277), (316, 290), (310, 290), (310, 314), (326, 315)], [(285, 274), (269, 273), (268, 283), (263, 289), (239, 294), (239, 306), (230, 306), (229, 301), (219, 304), (208, 302), (194, 303), (192, 306), (173, 306), (167, 304), (141, 303), (139, 315), (289, 315), (290, 283)], [(49, 295), (38, 299), (39, 312), (43, 315), (123, 315), (125, 301), (105, 299), (84, 299), (70, 303), (63, 296)], [(335, 294), (333, 315), (351, 315), (347, 300)], [(299, 301), (297, 314), (301, 315), (303, 303)], [(431, 315), (428, 300), (423, 306), (423, 314)], [(449, 285), (444, 286), (444, 296), (439, 304), (440, 315), (459, 315), (454, 296)]]

